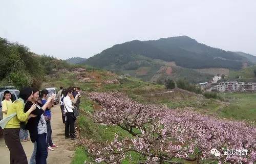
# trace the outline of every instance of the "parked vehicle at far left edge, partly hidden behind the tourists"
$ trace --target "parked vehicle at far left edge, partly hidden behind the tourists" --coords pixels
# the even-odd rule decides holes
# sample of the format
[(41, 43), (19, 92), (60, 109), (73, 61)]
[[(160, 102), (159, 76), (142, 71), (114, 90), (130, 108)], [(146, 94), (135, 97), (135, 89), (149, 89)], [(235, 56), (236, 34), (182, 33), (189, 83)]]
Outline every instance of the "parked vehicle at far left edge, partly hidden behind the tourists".
[[(4, 100), (4, 92), (6, 90), (9, 90), (11, 92), (11, 100), (14, 102), (19, 98), (19, 90), (15, 89), (13, 86), (4, 86), (0, 87), (0, 101), (2, 102)], [(3, 113), (2, 113), (2, 103), (0, 103), (0, 120), (3, 119)]]

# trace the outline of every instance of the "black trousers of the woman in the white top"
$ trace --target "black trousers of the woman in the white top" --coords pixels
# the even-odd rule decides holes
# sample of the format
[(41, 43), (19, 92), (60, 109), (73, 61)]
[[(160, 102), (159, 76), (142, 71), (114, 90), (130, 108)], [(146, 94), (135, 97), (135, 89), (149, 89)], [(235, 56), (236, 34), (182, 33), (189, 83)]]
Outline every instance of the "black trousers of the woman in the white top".
[[(65, 136), (75, 137), (75, 119), (73, 112), (66, 113)], [(70, 131), (69, 131), (70, 130)]]

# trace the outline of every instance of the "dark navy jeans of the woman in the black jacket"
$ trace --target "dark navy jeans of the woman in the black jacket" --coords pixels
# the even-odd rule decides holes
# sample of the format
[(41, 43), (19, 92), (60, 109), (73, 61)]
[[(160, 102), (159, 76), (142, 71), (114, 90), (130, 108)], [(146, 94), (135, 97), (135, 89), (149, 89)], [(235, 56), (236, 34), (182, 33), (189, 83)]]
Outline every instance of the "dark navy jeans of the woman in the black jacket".
[(47, 134), (38, 134), (36, 138), (36, 164), (46, 164), (46, 158), (48, 156), (47, 145), (46, 145)]

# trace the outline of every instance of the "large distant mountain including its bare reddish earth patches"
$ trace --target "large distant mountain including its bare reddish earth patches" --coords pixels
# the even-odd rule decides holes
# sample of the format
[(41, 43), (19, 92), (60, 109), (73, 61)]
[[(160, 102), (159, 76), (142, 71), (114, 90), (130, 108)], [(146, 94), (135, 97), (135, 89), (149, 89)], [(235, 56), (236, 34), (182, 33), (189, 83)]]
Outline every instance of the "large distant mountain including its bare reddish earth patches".
[(256, 57), (212, 48), (188, 36), (178, 36), (116, 44), (80, 63), (130, 73), (146, 81), (184, 77), (201, 82), (209, 79), (209, 75), (191, 69), (239, 70), (256, 63)]

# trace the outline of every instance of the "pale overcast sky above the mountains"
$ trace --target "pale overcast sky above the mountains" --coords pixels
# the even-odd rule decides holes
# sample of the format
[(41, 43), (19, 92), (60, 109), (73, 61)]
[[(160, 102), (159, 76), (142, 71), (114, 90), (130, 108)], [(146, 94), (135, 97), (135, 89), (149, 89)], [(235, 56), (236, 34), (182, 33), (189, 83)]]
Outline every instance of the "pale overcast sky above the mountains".
[(256, 1), (0, 0), (0, 37), (61, 59), (181, 35), (256, 55)]

